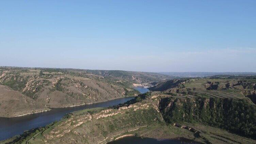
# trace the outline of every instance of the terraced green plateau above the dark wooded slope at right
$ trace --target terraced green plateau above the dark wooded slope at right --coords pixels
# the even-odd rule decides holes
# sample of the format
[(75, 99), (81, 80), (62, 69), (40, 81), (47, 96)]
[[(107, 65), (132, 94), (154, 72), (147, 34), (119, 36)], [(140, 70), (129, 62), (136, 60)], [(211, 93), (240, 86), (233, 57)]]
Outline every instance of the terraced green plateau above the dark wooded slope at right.
[(226, 76), (218, 79), (215, 79), (215, 76), (214, 78), (174, 79), (159, 82), (149, 90), (183, 97), (202, 96), (207, 98), (244, 99), (256, 104), (256, 79), (246, 76), (239, 76), (239, 78), (236, 77), (234, 79), (228, 79)]

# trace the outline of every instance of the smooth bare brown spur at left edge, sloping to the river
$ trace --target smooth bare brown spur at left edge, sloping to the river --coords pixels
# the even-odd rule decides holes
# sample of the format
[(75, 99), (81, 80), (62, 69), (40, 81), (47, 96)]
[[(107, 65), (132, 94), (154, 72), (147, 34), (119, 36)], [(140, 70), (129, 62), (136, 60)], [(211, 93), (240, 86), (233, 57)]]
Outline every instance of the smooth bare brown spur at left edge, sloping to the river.
[(0, 85), (0, 117), (15, 117), (50, 110), (32, 98)]

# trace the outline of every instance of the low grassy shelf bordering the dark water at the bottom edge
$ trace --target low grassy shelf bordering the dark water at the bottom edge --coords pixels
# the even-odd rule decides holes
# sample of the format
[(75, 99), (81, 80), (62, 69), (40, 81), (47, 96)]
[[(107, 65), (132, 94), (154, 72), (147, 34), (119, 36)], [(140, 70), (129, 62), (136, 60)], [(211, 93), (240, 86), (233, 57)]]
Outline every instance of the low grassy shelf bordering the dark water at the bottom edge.
[[(129, 137), (139, 137), (142, 139), (155, 139), (158, 142), (159, 141), (168, 141), (172, 142), (172, 144), (176, 144), (173, 142), (180, 143), (189, 143), (189, 144), (226, 144), (226, 143), (234, 143), (234, 144), (255, 144), (256, 141), (238, 136), (233, 133), (229, 133), (226, 130), (215, 128), (203, 124), (191, 124), (191, 123), (183, 123), (180, 124), (181, 127), (173, 126), (173, 125), (165, 125), (165, 124), (159, 124), (159, 125), (149, 125), (147, 127), (141, 127), (137, 130), (125, 132), (123, 133), (123, 136), (118, 136), (116, 139), (113, 139), (112, 141), (108, 142), (107, 144), (127, 144), (126, 142), (131, 142), (132, 140), (129, 140)], [(186, 129), (185, 127), (190, 127), (193, 130)], [(121, 141), (122, 139), (125, 139), (124, 141)], [(117, 142), (115, 141), (117, 140)], [(119, 142), (120, 140), (120, 142)], [(174, 140), (174, 141), (173, 141)], [(147, 141), (150, 143), (150, 141)], [(151, 141), (152, 142), (152, 141)], [(138, 142), (134, 142), (138, 143)], [(141, 144), (144, 144), (142, 142), (139, 142)], [(157, 142), (154, 144), (158, 144)], [(162, 143), (159, 143), (162, 144)], [(167, 143), (166, 143), (167, 144)]]

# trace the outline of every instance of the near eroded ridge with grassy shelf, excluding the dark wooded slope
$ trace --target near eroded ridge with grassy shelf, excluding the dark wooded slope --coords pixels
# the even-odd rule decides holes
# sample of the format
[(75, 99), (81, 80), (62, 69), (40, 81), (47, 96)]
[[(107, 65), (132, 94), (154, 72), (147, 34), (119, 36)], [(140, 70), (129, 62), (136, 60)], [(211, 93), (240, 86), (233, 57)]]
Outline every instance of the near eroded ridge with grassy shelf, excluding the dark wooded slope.
[(146, 98), (116, 108), (83, 109), (18, 141), (106, 144), (126, 136), (138, 136), (159, 141), (178, 139), (204, 144), (256, 143), (255, 140), (201, 123), (166, 123), (158, 106), (156, 98)]

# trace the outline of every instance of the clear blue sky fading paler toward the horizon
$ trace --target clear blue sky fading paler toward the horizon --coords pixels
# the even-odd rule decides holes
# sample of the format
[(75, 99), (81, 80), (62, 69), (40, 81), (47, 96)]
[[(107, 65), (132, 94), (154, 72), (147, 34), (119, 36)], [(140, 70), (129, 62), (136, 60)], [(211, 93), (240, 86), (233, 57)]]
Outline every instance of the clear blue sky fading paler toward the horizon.
[(256, 72), (256, 0), (2, 0), (0, 66)]

